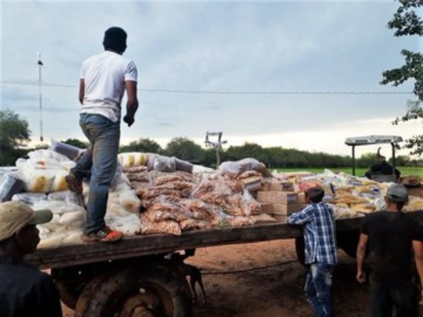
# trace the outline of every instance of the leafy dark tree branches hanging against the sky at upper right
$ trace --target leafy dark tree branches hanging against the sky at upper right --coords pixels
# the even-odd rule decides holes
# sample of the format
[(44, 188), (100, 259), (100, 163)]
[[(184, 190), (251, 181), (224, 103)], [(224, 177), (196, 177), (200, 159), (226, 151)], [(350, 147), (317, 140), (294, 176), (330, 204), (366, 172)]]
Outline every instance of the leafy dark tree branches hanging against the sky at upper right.
[[(400, 6), (388, 22), (388, 28), (396, 30), (396, 37), (423, 35), (423, 20), (415, 10), (423, 7), (423, 0), (399, 0)], [(423, 54), (403, 49), (401, 54), (405, 57), (405, 64), (400, 68), (393, 68), (382, 73), (382, 85), (392, 83), (398, 86), (412, 80), (414, 82), (413, 92), (417, 97), (415, 101), (409, 101), (407, 113), (396, 118), (393, 124), (406, 122), (408, 120), (421, 120), (423, 118)], [(405, 140), (405, 148), (411, 149), (410, 154), (423, 154), (423, 135), (415, 135)]]

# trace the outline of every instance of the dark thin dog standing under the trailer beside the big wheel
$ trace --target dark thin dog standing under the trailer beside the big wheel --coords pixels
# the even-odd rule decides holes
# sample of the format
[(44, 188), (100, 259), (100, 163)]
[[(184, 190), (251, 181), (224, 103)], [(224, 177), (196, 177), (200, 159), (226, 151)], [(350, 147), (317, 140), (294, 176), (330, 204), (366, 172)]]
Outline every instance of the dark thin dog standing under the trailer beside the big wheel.
[(190, 264), (184, 263), (184, 260), (188, 258), (187, 254), (181, 255), (178, 252), (171, 254), (170, 260), (173, 262), (179, 269), (180, 273), (188, 278), (190, 282), (190, 289), (192, 293), (192, 303), (197, 304), (197, 291), (195, 290), (195, 285), (198, 283), (200, 285), (200, 289), (202, 291), (203, 296), (203, 304), (207, 303), (206, 291), (204, 290), (204, 284), (202, 282), (202, 275), (199, 268), (195, 266), (191, 266)]

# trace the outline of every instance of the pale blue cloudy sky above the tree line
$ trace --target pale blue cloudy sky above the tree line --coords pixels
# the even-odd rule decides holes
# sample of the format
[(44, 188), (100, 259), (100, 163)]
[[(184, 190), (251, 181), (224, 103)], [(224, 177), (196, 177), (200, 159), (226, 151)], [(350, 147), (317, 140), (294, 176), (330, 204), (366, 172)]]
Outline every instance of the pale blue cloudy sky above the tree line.
[[(350, 154), (346, 137), (423, 134), (421, 121), (391, 124), (415, 99), (411, 82), (379, 84), (384, 70), (403, 65), (401, 49), (423, 50), (422, 39), (394, 37), (386, 27), (396, 1), (3, 0), (0, 6), (0, 108), (29, 121), (32, 143), (40, 135), (37, 53), (44, 63), (44, 139), (85, 140), (78, 125), (80, 65), (102, 52), (110, 26), (128, 33), (124, 56), (138, 69), (140, 108), (132, 127), (121, 125), (121, 144), (140, 137), (161, 146), (173, 137), (204, 144), (207, 131), (222, 131), (228, 146)], [(357, 154), (369, 151), (376, 148)]]

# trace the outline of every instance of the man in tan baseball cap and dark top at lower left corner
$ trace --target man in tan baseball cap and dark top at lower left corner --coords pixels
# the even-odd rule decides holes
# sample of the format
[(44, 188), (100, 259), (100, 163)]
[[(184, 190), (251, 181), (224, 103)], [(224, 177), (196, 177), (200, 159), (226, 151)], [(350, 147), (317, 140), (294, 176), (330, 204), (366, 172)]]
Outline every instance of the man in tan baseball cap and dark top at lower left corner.
[(50, 275), (23, 261), (37, 249), (36, 225), (51, 211), (33, 211), (18, 201), (0, 204), (0, 316), (61, 317), (59, 292)]

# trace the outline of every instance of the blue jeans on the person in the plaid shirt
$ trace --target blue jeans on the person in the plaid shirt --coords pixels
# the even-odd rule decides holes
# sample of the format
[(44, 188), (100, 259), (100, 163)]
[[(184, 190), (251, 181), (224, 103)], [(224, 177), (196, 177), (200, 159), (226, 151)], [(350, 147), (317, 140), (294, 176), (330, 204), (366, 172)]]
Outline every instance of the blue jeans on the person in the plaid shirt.
[(333, 316), (331, 295), (332, 272), (334, 266), (326, 263), (312, 263), (305, 282), (305, 297), (312, 304), (318, 317)]

